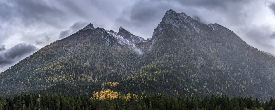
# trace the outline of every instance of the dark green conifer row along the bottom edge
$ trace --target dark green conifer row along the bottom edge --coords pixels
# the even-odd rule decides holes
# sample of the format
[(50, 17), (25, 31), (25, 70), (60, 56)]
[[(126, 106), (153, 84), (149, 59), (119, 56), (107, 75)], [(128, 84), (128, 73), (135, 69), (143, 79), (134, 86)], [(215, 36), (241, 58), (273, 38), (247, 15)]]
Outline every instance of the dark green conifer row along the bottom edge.
[[(94, 100), (87, 96), (68, 97), (62, 95), (20, 95), (13, 99), (0, 98), (1, 110), (272, 110), (275, 101), (262, 102), (251, 97), (214, 96), (211, 98), (183, 98), (162, 94), (130, 95), (125, 100), (123, 95), (115, 99)], [(40, 106), (34, 100), (41, 99)], [(11, 101), (13, 100), (13, 101)]]

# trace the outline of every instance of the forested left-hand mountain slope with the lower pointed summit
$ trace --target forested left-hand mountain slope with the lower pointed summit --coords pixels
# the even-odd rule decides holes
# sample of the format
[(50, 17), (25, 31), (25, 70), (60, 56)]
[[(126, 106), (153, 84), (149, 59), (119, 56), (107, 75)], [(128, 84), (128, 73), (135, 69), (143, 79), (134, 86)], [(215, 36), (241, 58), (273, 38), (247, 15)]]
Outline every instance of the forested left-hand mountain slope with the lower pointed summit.
[[(137, 74), (140, 59), (132, 44), (115, 32), (89, 24), (75, 34), (43, 47), (0, 74), (1, 94), (39, 92), (56, 84), (123, 80)], [(131, 68), (131, 74), (128, 70)], [(101, 83), (100, 83), (101, 84)], [(87, 86), (86, 86), (87, 88)]]

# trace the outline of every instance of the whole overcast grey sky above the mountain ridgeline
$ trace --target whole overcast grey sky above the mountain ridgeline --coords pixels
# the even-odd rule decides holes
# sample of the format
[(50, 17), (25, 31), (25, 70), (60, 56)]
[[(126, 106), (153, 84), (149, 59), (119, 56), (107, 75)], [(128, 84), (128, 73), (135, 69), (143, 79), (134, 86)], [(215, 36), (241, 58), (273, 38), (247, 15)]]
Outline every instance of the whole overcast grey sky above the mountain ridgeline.
[(273, 0), (1, 0), (0, 72), (88, 23), (151, 38), (173, 9), (205, 24), (218, 23), (253, 47), (275, 54)]

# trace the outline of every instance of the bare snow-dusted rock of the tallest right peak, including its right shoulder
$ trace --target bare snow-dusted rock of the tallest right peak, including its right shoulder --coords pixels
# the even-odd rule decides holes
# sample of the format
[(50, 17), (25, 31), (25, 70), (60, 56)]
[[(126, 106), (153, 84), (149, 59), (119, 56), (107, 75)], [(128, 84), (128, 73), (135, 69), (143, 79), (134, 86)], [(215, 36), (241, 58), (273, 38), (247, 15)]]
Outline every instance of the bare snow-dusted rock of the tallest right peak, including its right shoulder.
[(247, 45), (239, 36), (233, 31), (219, 25), (219, 24), (204, 24), (197, 21), (185, 13), (176, 13), (173, 10), (168, 10), (162, 22), (154, 30), (152, 42), (149, 49), (152, 49), (154, 43), (158, 38), (169, 38), (163, 36), (165, 29), (170, 28), (174, 32), (186, 34), (187, 36), (201, 36), (207, 41), (215, 43), (232, 43), (236, 46)]

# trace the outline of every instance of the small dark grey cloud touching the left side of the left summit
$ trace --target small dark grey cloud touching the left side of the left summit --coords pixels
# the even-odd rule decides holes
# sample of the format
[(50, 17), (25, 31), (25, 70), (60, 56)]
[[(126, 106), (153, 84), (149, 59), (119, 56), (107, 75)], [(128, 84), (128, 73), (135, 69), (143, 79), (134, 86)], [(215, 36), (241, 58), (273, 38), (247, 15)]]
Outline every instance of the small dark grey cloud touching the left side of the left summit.
[(71, 34), (74, 34), (78, 30), (84, 28), (87, 24), (87, 22), (76, 22), (72, 26), (70, 26), (70, 29), (61, 31), (59, 34), (59, 38), (65, 38), (70, 36)]

